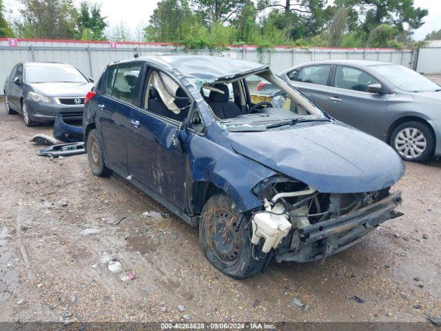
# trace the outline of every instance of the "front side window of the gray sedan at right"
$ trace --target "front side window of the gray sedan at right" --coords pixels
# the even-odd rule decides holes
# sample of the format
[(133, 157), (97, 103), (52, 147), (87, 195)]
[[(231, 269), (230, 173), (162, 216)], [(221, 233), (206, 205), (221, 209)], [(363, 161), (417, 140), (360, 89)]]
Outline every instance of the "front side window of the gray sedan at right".
[(369, 85), (379, 83), (380, 82), (370, 74), (357, 68), (345, 66), (337, 66), (336, 68), (336, 78), (334, 81), (336, 88), (367, 92)]

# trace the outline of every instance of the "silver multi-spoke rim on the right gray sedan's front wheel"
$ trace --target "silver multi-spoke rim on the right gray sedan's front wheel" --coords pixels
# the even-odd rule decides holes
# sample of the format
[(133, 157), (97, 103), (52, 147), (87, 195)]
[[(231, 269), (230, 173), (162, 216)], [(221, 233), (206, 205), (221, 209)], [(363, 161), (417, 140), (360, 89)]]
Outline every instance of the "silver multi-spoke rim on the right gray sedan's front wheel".
[(395, 137), (395, 148), (402, 157), (416, 159), (427, 148), (427, 139), (417, 128), (405, 128)]

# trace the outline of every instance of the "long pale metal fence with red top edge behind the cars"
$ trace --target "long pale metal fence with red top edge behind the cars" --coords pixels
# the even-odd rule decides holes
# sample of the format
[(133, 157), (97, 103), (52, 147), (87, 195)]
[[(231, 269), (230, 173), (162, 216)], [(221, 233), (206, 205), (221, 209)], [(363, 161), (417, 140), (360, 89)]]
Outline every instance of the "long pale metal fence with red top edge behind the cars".
[[(399, 63), (413, 67), (412, 50), (384, 48), (287, 48), (276, 47), (260, 50), (256, 46), (231, 46), (225, 50), (185, 50), (183, 46), (171, 43), (116, 43), (107, 41), (59, 41), (0, 39), (0, 84), (10, 74), (16, 63), (27, 61), (57, 61), (70, 63), (86, 76), (99, 78), (107, 63), (119, 59), (149, 54), (199, 54), (232, 57), (265, 63), (274, 72), (307, 61), (322, 59), (369, 59)], [(3, 89), (0, 90), (3, 94)]]

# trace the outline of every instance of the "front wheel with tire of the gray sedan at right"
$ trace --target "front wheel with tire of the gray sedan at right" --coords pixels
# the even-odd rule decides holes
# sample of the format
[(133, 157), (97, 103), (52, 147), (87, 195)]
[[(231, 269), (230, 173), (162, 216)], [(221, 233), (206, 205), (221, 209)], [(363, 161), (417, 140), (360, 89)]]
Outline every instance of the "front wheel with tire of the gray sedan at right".
[(404, 161), (427, 161), (435, 149), (435, 137), (429, 126), (418, 121), (409, 121), (397, 126), (389, 143)]

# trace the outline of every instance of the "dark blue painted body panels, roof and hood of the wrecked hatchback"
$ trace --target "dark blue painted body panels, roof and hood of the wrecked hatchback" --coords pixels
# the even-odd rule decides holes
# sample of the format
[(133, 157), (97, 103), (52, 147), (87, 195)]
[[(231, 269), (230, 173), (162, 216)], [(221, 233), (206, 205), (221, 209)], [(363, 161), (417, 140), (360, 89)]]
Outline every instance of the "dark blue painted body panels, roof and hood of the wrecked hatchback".
[[(120, 63), (130, 61), (134, 60)], [(200, 113), (205, 131), (178, 132), (176, 121), (105, 96), (101, 93), (103, 83), (85, 106), (83, 126), (87, 132), (95, 125), (102, 135), (106, 163), (189, 216), (193, 216), (197, 195), (203, 194), (194, 195), (198, 183), (220, 188), (240, 211), (247, 211), (262, 205), (252, 188), (276, 174), (303, 181), (319, 192), (349, 193), (380, 190), (396, 183), (404, 173), (401, 159), (389, 146), (336, 121), (299, 123), (264, 132), (227, 132), (221, 128), (189, 77), (198, 75), (213, 81), (242, 77), (265, 70), (258, 63), (179, 56), (136, 61), (177, 79), (192, 96), (192, 109)], [(139, 99), (141, 106), (143, 98)], [(105, 111), (98, 107), (101, 103), (106, 103)], [(173, 143), (176, 134), (179, 146)]]

